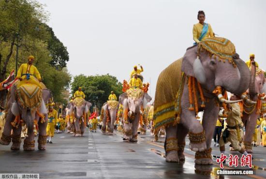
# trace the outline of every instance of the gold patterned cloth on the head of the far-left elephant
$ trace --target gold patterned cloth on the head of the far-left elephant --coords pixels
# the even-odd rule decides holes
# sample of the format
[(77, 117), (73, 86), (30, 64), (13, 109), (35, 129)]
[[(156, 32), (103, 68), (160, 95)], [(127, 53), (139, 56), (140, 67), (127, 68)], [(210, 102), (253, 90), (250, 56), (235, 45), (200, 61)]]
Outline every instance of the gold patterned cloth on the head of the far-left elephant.
[(33, 84), (24, 84), (16, 89), (17, 101), (23, 108), (38, 108), (43, 100), (42, 90)]

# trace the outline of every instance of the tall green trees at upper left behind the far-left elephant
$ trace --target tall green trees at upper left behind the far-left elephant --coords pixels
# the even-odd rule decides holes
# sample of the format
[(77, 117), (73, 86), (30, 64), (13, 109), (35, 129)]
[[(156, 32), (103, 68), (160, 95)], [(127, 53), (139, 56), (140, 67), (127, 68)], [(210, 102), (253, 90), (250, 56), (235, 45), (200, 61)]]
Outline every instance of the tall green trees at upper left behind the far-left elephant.
[(71, 81), (65, 68), (68, 52), (45, 24), (47, 19), (43, 5), (36, 0), (0, 0), (0, 81), (15, 69), (18, 46), (18, 66), (33, 55), (54, 100), (64, 102), (62, 91)]

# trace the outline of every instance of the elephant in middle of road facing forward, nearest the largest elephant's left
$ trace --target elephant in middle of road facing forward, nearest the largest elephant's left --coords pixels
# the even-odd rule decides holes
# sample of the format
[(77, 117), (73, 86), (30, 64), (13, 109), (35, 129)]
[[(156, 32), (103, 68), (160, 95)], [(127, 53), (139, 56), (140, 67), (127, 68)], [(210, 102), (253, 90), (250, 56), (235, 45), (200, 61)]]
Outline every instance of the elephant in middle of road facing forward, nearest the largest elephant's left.
[(147, 108), (147, 103), (151, 101), (151, 97), (143, 90), (129, 89), (119, 96), (119, 103), (123, 105), (123, 124), (124, 136), (123, 140), (137, 142), (137, 130), (139, 119), (143, 109)]

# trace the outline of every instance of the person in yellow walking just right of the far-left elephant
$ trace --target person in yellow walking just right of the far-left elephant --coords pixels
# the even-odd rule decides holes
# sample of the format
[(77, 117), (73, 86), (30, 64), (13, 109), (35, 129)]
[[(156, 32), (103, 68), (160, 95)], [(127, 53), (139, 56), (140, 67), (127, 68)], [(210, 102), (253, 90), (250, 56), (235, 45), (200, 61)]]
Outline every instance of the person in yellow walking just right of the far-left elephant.
[(53, 143), (52, 137), (55, 134), (55, 125), (57, 122), (57, 111), (54, 109), (53, 104), (48, 104), (49, 114), (48, 114), (48, 123), (46, 127), (47, 134), (47, 143)]

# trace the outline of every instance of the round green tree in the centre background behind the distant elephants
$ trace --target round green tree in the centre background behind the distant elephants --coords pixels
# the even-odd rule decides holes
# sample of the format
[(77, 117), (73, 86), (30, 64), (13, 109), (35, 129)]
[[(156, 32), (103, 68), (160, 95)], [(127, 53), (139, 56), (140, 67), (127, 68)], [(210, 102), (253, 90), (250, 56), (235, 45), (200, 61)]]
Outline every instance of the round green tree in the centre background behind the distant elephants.
[(78, 87), (81, 87), (86, 95), (85, 99), (96, 104), (99, 108), (108, 100), (111, 91), (114, 91), (117, 97), (122, 94), (122, 83), (118, 82), (115, 76), (109, 74), (100, 76), (78, 75), (74, 77), (71, 86), (73, 94), (78, 90)]

